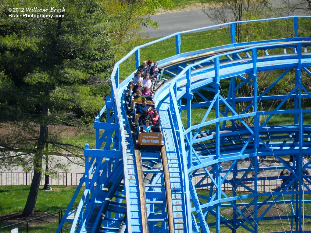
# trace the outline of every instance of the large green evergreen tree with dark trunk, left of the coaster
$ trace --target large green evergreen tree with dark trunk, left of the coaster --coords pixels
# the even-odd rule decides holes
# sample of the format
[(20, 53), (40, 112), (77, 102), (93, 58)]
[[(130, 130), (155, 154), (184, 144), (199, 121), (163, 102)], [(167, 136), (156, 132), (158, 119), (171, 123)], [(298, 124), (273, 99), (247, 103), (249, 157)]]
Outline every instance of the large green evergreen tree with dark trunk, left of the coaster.
[[(27, 11), (31, 7), (48, 12)], [(10, 8), (23, 8), (28, 17), (9, 17)], [(0, 165), (27, 169), (33, 163), (24, 216), (35, 209), (44, 154), (81, 153), (82, 148), (62, 143), (55, 134), (48, 137), (48, 126), (83, 125), (104, 105), (114, 64), (108, 32), (118, 27), (112, 22), (116, 16), (105, 11), (94, 0), (2, 1), (0, 120), (14, 131), (0, 136)]]

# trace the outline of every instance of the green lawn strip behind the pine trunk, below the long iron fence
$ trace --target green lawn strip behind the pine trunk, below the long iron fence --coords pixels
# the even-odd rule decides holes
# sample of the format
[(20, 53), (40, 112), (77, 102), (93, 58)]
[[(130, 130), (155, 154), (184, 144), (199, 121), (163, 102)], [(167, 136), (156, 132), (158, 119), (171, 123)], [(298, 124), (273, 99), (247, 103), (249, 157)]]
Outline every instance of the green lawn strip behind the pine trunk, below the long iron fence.
[[(51, 186), (52, 191), (44, 191), (40, 187), (35, 206), (36, 212), (57, 212), (60, 209), (66, 209), (76, 187)], [(0, 186), (0, 215), (13, 212), (22, 212), (29, 194), (30, 185), (18, 186)], [(84, 188), (78, 194), (76, 202), (73, 206), (77, 206)]]

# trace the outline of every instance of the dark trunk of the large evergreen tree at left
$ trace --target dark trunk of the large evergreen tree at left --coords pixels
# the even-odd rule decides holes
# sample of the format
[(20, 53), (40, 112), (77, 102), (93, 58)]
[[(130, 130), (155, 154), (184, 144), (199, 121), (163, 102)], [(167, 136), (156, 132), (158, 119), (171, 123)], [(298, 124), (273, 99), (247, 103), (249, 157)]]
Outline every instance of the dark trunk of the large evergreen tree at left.
[(40, 125), (40, 135), (37, 142), (37, 148), (34, 157), (34, 177), (32, 178), (30, 191), (28, 194), (28, 198), (26, 201), (26, 205), (22, 215), (24, 217), (30, 216), (35, 211), (35, 205), (37, 201), (40, 181), (41, 181), (41, 174), (42, 174), (42, 158), (43, 158), (43, 150), (47, 142), (47, 117), (49, 111), (49, 94), (50, 94), (50, 87), (47, 86), (44, 93), (44, 104), (42, 107), (42, 120)]

